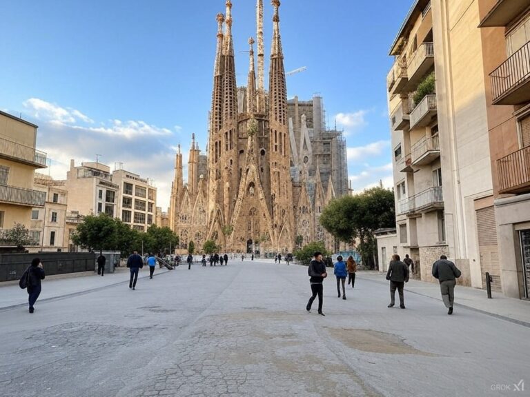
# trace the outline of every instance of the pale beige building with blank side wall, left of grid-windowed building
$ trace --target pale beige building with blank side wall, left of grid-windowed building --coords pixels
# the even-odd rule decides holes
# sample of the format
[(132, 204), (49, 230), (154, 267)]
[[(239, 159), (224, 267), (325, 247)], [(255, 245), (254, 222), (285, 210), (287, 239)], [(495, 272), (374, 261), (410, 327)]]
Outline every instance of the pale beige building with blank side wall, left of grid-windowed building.
[(107, 214), (118, 216), (117, 199), (119, 185), (112, 182), (110, 167), (102, 163), (81, 163), (76, 167), (70, 160), (70, 170), (66, 172), (68, 191), (68, 211), (80, 215)]

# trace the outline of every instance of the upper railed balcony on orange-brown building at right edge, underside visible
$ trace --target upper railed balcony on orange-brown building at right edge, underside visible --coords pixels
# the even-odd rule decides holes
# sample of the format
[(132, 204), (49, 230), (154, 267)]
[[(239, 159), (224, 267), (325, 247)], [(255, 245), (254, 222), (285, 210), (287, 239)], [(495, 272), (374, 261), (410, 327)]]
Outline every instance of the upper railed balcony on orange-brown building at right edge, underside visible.
[(493, 105), (530, 101), (530, 41), (489, 74)]

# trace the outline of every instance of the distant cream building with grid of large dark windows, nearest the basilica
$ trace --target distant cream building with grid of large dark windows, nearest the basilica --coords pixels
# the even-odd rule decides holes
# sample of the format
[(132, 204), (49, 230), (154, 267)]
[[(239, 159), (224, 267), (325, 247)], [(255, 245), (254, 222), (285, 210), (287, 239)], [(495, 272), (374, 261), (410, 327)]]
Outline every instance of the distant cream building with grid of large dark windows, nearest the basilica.
[(112, 182), (119, 186), (117, 218), (140, 232), (156, 223), (157, 189), (133, 172), (115, 170)]

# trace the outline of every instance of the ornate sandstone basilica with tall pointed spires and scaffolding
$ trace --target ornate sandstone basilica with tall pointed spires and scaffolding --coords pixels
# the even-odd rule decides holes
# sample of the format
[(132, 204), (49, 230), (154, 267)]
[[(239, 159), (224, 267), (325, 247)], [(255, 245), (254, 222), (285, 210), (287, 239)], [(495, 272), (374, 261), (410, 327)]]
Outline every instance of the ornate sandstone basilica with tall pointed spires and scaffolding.
[[(268, 92), (264, 88), (263, 1), (257, 0), (256, 6), (257, 75), (251, 38), (246, 88), (238, 89), (235, 82), (230, 0), (226, 14), (217, 15), (207, 155), (200, 153), (193, 138), (186, 184), (180, 147), (175, 161), (169, 220), (182, 250), (190, 241), (202, 247), (204, 241), (215, 240), (232, 252), (291, 252), (297, 236), (324, 241), (333, 250), (334, 241), (320, 227), (318, 217), (336, 195), (333, 178), (341, 181), (340, 191), (344, 185), (347, 192), (342, 167), (345, 145), (339, 132), (325, 131), (320, 123), (318, 128), (308, 126), (309, 110), (306, 115), (293, 103), (291, 113), (298, 113), (289, 116), (279, 6), (274, 0)], [(311, 110), (311, 120), (314, 113)], [(320, 134), (318, 139), (313, 137), (314, 156), (302, 139), (308, 137), (309, 128)], [(342, 154), (339, 159), (332, 157), (339, 147), (344, 158)]]

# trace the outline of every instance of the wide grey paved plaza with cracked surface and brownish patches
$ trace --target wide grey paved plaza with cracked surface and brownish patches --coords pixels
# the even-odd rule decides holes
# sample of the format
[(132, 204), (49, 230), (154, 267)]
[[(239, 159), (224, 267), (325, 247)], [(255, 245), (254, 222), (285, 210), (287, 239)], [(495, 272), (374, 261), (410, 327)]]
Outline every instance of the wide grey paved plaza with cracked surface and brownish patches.
[(331, 269), (324, 317), (316, 301), (305, 310), (299, 265), (146, 274), (136, 291), (123, 269), (47, 278), (35, 314), (25, 291), (1, 286), (0, 396), (530, 394), (526, 302), (503, 314), (502, 298), (457, 287), (448, 316), (435, 285), (411, 281), (406, 309), (388, 309), (383, 275), (359, 272), (343, 301)]

